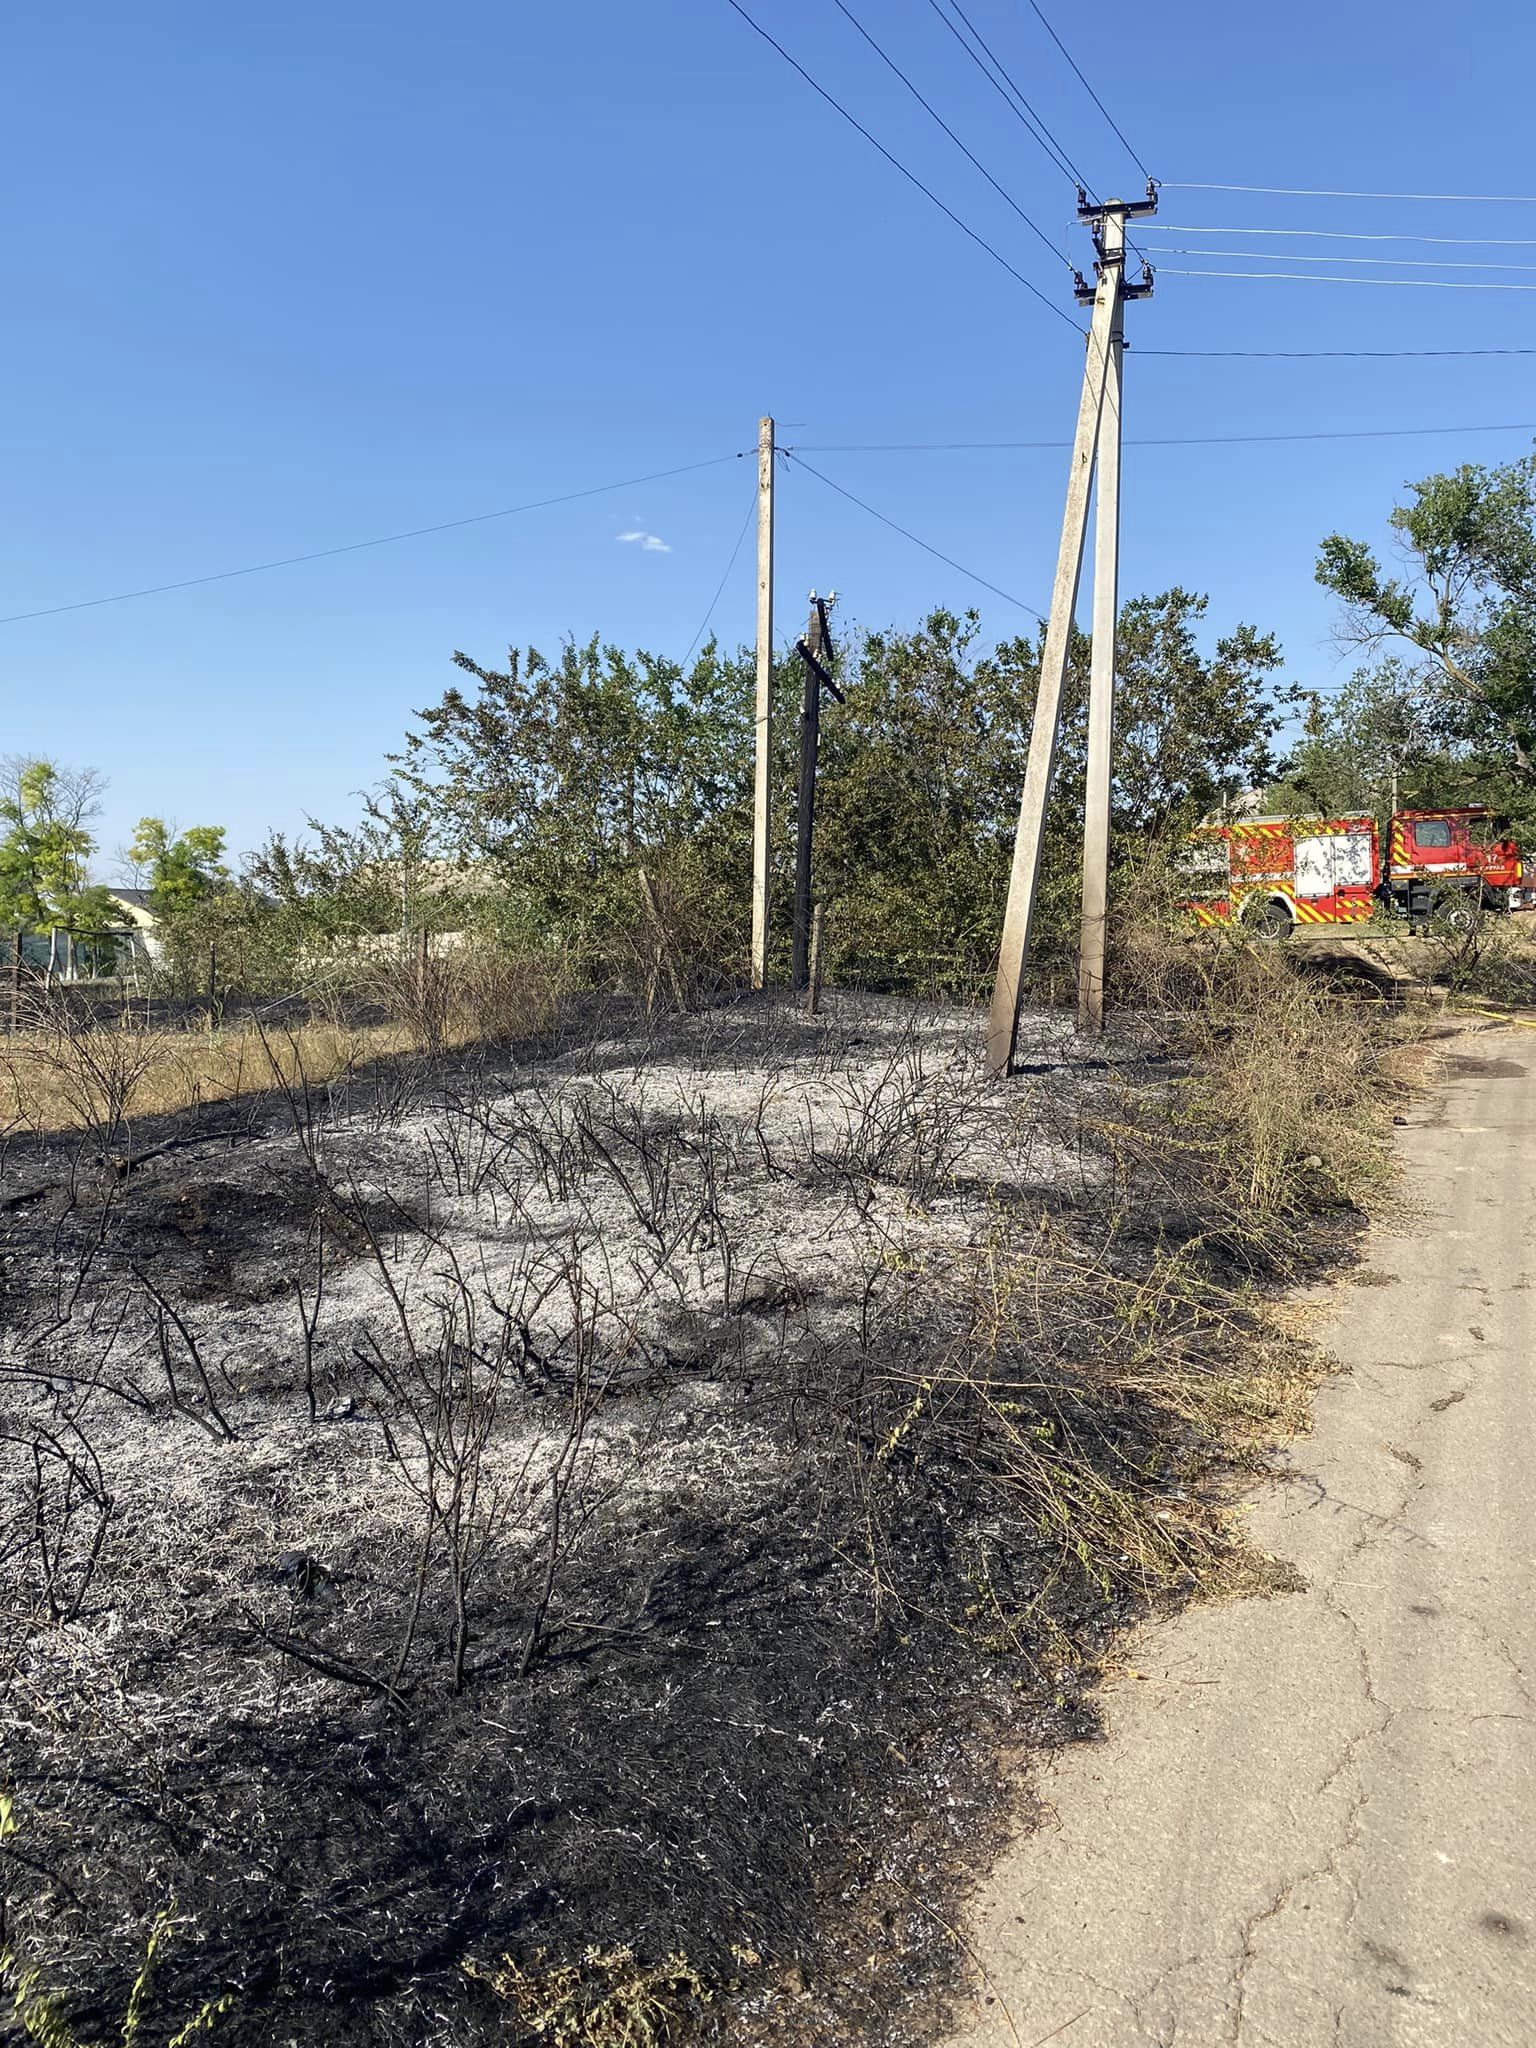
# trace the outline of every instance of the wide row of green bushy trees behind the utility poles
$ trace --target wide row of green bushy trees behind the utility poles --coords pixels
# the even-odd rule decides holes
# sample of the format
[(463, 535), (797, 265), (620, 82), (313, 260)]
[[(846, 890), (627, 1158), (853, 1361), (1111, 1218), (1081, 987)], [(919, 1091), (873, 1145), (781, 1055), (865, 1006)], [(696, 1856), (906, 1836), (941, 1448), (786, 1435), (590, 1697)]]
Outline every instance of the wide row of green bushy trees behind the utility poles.
[[(1124, 606), (1114, 760), (1118, 856), (1143, 860), (1219, 799), (1274, 772), (1274, 641), (1198, 643), (1186, 590)], [(688, 973), (745, 969), (754, 664), (709, 643), (686, 668), (600, 639), (502, 670), (455, 655), (356, 827), (274, 838), (250, 883), (313, 946), (397, 930), (494, 932), (596, 979), (631, 977), (653, 936), (645, 870)], [(934, 612), (834, 653), (817, 786), (829, 967), (895, 985), (969, 985), (991, 965), (1038, 678), (1038, 645), (985, 647), (975, 612)], [(1090, 641), (1075, 635), (1042, 930), (1077, 915)], [(786, 950), (803, 672), (774, 672), (774, 928)]]

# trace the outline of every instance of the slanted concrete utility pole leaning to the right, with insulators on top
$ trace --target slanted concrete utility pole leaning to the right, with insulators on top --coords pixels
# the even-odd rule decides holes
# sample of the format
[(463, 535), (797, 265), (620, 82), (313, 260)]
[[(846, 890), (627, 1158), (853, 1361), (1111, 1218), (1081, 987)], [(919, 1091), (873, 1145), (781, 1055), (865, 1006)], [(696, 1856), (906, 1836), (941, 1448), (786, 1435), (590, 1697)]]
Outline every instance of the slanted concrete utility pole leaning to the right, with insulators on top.
[[(1018, 807), (1018, 831), (1014, 836), (1014, 866), (1008, 877), (1008, 907), (1004, 911), (1004, 936), (997, 948), (997, 979), (991, 991), (991, 1012), (987, 1018), (987, 1071), (1008, 1073), (1018, 1038), (1018, 1012), (1024, 999), (1024, 969), (1030, 956), (1030, 928), (1034, 924), (1034, 897), (1040, 881), (1040, 852), (1044, 848), (1044, 819), (1051, 801), (1051, 778), (1057, 766), (1057, 737), (1061, 731), (1061, 690), (1067, 680), (1067, 653), (1071, 647), (1071, 625), (1077, 608), (1077, 580), (1083, 567), (1083, 537), (1087, 532), (1087, 496), (1094, 481), (1104, 395), (1110, 381), (1110, 356), (1114, 334), (1118, 332), (1120, 301), (1139, 299), (1151, 291), (1151, 272), (1139, 285), (1124, 283), (1124, 219), (1133, 213), (1155, 213), (1157, 188), (1147, 184), (1147, 199), (1126, 203), (1122, 199), (1092, 207), (1087, 195), (1079, 190), (1077, 213), (1094, 225), (1098, 248), (1098, 283), (1090, 289), (1079, 281), (1079, 299), (1092, 299), (1094, 317), (1087, 328), (1087, 360), (1083, 365), (1083, 389), (1077, 401), (1077, 430), (1071, 444), (1071, 465), (1067, 469), (1067, 504), (1061, 520), (1061, 545), (1057, 549), (1057, 575), (1051, 586), (1051, 616), (1044, 629), (1040, 651), (1040, 676), (1034, 692), (1034, 723), (1030, 729), (1030, 754), (1024, 764), (1024, 795)], [(1104, 236), (1104, 223), (1118, 221), (1114, 254)], [(1118, 408), (1116, 408), (1118, 434)], [(1116, 471), (1118, 483), (1118, 471)], [(1116, 514), (1118, 518), (1118, 514)]]

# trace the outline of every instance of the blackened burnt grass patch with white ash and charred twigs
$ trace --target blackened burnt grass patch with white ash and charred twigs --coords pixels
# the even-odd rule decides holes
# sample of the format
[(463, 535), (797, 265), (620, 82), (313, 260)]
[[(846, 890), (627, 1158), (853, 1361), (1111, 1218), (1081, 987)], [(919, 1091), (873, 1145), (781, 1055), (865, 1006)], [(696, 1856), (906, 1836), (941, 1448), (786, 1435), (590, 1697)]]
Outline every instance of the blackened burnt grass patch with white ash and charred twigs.
[(172, 1901), (145, 2042), (629, 2040), (627, 1970), (637, 2042), (932, 2038), (1028, 1759), (1229, 1544), (1233, 1446), (1116, 1360), (1241, 1370), (1356, 1229), (1169, 1149), (1151, 1026), (1032, 1034), (997, 1087), (963, 1012), (604, 1012), (12, 1137), (6, 1927), (82, 2040)]

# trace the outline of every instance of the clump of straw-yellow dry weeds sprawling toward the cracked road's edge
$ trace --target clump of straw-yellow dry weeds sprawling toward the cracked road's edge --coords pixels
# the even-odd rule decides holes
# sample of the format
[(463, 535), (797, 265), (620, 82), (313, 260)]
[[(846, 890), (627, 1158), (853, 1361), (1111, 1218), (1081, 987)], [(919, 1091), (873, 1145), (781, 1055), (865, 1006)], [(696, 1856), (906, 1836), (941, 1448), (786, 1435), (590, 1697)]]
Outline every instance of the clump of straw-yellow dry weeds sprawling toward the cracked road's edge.
[[(1212, 1274), (1200, 1239), (1126, 1270), (1114, 1229), (1085, 1243), (1049, 1217), (1024, 1243), (999, 1219), (954, 1280), (963, 1337), (922, 1376), (885, 1376), (903, 1405), (877, 1460), (965, 1438), (1008, 1524), (1055, 1554), (1024, 1608), (971, 1571), (971, 1640), (1071, 1667), (1051, 1626), (1061, 1585), (1151, 1606), (1276, 1589), (1237, 1503), (1333, 1370), (1305, 1317)], [(1116, 1442), (1133, 1415), (1137, 1442)]]

